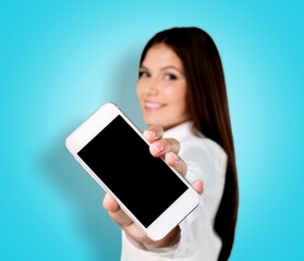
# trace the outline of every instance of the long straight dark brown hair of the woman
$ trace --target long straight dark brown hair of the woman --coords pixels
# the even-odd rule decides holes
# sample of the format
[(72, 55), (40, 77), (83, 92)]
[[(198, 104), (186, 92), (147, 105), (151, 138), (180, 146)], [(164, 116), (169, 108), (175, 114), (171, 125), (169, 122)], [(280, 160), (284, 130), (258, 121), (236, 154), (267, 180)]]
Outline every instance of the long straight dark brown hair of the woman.
[(223, 69), (211, 37), (197, 27), (173, 27), (157, 33), (147, 51), (166, 44), (181, 59), (187, 83), (187, 107), (194, 127), (220, 145), (228, 156), (223, 195), (214, 228), (222, 241), (218, 260), (228, 260), (232, 250), (239, 207), (239, 185)]

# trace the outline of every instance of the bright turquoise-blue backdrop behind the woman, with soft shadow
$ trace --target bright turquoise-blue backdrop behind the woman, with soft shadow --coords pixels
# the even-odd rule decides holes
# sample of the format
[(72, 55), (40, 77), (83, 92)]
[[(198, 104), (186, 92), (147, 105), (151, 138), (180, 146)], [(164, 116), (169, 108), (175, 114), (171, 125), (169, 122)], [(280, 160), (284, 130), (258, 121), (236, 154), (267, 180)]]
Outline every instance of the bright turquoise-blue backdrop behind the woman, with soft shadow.
[(141, 51), (156, 32), (199, 26), (226, 71), (240, 178), (231, 260), (304, 249), (301, 1), (1, 1), (0, 259), (119, 260), (102, 189), (65, 137), (106, 101), (144, 127)]

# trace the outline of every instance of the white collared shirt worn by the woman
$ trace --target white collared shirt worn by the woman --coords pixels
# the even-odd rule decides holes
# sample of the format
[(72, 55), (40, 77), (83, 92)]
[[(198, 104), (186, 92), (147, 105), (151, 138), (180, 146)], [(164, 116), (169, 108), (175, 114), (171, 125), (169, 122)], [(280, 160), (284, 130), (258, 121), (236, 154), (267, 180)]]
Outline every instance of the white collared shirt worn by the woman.
[(221, 240), (214, 231), (215, 216), (221, 200), (227, 169), (227, 154), (215, 141), (195, 136), (186, 122), (165, 132), (181, 145), (179, 156), (187, 164), (186, 178), (204, 182), (199, 206), (180, 223), (181, 239), (169, 248), (143, 249), (131, 243), (122, 232), (121, 261), (214, 261), (218, 259)]

